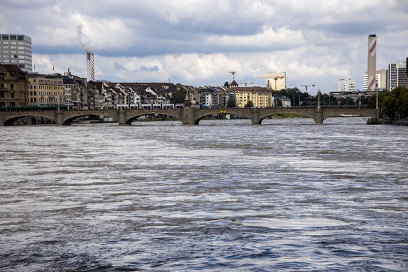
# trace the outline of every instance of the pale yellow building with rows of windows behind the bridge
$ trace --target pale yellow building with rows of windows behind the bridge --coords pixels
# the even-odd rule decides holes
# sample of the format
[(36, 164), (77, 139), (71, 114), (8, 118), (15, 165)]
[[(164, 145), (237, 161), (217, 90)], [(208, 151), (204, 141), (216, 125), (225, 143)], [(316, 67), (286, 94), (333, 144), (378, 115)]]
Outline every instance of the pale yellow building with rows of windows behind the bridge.
[(252, 102), (254, 107), (266, 108), (274, 106), (274, 99), (271, 90), (263, 87), (238, 87), (231, 89), (235, 93), (236, 107), (243, 108), (248, 102)]

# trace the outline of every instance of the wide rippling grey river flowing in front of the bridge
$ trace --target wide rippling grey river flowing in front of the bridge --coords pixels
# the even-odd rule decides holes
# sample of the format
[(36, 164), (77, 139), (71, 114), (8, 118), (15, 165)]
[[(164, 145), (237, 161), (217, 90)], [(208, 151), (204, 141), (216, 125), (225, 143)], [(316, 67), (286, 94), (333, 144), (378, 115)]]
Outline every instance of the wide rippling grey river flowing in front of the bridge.
[(408, 128), (0, 127), (0, 271), (407, 271)]

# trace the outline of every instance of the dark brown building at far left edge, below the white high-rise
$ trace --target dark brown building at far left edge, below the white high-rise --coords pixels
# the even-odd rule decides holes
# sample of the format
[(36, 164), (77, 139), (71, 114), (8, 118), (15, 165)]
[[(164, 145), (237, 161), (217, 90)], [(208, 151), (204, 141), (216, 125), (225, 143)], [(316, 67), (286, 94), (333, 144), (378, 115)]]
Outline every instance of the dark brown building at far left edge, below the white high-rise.
[(27, 73), (17, 65), (0, 64), (0, 107), (27, 106)]

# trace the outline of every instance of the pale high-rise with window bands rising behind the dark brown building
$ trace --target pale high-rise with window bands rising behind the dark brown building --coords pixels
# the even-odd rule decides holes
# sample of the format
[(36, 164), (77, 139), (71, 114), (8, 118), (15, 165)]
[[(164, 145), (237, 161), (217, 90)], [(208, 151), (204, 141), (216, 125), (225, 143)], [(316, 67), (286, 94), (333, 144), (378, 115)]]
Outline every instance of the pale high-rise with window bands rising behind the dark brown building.
[(31, 73), (31, 38), (22, 34), (0, 34), (0, 63), (15, 64), (22, 71)]

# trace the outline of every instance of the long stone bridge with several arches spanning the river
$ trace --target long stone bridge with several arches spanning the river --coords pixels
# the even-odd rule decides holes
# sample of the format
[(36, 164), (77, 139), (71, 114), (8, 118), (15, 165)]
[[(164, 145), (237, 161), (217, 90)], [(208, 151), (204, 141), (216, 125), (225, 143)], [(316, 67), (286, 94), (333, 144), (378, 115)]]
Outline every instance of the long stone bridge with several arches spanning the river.
[(232, 108), (232, 109), (95, 109), (95, 110), (64, 110), (64, 111), (1, 111), (0, 126), (13, 125), (20, 118), (43, 117), (55, 121), (57, 125), (70, 125), (76, 118), (83, 116), (105, 116), (118, 121), (120, 125), (130, 125), (140, 116), (163, 114), (177, 118), (182, 125), (198, 125), (200, 120), (213, 114), (234, 114), (252, 121), (253, 125), (261, 124), (262, 120), (276, 114), (299, 114), (312, 118), (315, 123), (322, 124), (326, 118), (344, 115), (378, 117), (378, 109), (362, 107), (272, 107), (272, 108)]

